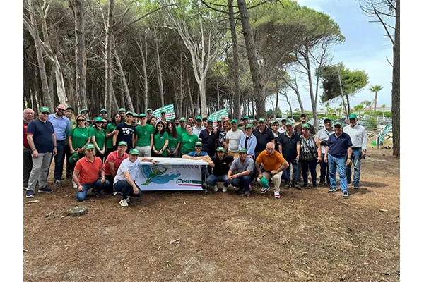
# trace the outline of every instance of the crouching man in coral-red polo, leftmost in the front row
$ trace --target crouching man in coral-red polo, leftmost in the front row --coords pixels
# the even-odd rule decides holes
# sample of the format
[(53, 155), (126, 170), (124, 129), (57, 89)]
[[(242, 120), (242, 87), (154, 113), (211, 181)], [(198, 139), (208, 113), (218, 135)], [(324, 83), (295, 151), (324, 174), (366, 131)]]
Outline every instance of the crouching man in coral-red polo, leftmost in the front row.
[(101, 196), (101, 191), (109, 185), (109, 181), (105, 178), (102, 160), (95, 157), (93, 144), (86, 145), (86, 157), (78, 159), (72, 178), (78, 187), (76, 190), (76, 200), (78, 201), (86, 200), (87, 192), (92, 187), (91, 193), (96, 197)]

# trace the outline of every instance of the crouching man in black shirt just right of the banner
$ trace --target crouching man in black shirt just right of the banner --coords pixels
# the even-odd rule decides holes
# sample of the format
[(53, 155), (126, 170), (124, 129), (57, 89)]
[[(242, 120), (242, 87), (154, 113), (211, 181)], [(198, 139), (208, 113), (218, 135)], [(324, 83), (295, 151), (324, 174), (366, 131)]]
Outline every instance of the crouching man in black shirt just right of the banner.
[(216, 155), (211, 158), (214, 164), (213, 170), (206, 179), (206, 183), (209, 186), (214, 186), (213, 191), (218, 191), (218, 187), (216, 186), (217, 182), (223, 182), (223, 192), (227, 192), (228, 170), (230, 169), (230, 164), (233, 159), (234, 158), (232, 156), (225, 154), (225, 149), (223, 147), (216, 148)]

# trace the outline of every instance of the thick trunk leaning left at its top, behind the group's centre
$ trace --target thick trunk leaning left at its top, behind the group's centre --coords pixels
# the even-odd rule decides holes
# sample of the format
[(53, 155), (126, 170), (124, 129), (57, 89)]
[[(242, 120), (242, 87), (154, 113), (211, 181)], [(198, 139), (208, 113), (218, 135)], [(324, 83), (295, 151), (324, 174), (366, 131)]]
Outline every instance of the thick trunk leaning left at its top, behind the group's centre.
[(266, 115), (264, 85), (261, 80), (261, 72), (257, 57), (257, 49), (254, 46), (254, 38), (252, 27), (249, 22), (249, 12), (245, 0), (237, 0), (240, 18), (242, 21), (243, 35), (245, 37), (247, 57), (249, 59), (250, 73), (252, 73), (254, 97), (257, 103), (257, 114), (259, 116)]

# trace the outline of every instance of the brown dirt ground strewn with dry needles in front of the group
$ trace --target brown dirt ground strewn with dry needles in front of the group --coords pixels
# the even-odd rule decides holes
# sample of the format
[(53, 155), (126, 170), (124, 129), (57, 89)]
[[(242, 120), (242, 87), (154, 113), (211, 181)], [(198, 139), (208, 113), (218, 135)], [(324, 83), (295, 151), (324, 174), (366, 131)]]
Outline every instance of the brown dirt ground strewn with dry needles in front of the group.
[[(64, 180), (24, 199), (24, 279), (399, 281), (399, 159), (391, 154), (369, 149), (362, 188), (349, 188), (348, 199), (320, 187), (282, 189), (276, 200), (254, 186), (252, 197), (144, 192), (123, 208), (119, 195), (78, 203)], [(63, 215), (76, 205), (88, 214)]]

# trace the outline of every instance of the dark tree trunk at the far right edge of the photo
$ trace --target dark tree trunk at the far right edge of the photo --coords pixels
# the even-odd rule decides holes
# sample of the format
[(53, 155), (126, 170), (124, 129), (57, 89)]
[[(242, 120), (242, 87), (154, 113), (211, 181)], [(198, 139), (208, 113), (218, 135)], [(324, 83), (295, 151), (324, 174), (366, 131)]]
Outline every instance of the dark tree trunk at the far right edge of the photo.
[(400, 0), (396, 0), (396, 25), (394, 31), (394, 47), (393, 47), (393, 73), (391, 84), (391, 125), (393, 125), (393, 155), (401, 157), (401, 4)]

